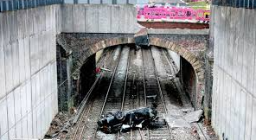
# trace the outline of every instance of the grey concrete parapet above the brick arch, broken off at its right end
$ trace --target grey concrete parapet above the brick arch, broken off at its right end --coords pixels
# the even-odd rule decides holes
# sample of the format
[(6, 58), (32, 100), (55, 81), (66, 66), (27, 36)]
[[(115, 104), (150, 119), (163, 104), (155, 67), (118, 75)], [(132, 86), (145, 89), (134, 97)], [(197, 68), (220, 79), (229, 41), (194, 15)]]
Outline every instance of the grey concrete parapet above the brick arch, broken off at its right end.
[(65, 33), (136, 33), (137, 10), (122, 4), (64, 4), (62, 32)]

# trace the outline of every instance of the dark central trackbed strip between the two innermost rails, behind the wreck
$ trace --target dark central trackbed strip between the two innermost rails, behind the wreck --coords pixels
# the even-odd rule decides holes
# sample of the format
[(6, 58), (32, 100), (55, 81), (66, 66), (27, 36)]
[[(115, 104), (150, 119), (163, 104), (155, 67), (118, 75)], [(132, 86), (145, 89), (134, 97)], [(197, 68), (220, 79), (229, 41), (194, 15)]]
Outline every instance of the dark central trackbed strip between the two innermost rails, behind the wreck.
[[(143, 69), (141, 60), (141, 50), (136, 51), (131, 48), (129, 60), (129, 70), (127, 71), (127, 84), (123, 102), (123, 111), (129, 111), (144, 106), (144, 86)], [(130, 130), (130, 133), (119, 133), (119, 139), (144, 139), (142, 130)]]

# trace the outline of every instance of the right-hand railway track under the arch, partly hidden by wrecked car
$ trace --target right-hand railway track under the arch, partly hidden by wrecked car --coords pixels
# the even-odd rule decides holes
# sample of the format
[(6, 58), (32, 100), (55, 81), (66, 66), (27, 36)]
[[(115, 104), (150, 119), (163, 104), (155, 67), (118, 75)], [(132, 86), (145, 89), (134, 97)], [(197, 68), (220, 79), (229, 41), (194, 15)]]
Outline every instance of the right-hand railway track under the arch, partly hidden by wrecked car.
[[(163, 114), (167, 113), (166, 105), (163, 99), (163, 92), (160, 82), (158, 80), (157, 69), (154, 59), (152, 57), (151, 49), (143, 49), (144, 61), (144, 85), (146, 94), (146, 105), (152, 103), (157, 104), (158, 116), (163, 118)], [(145, 66), (145, 64), (147, 64)], [(149, 130), (147, 132), (147, 139), (171, 139), (170, 128), (166, 124), (163, 128)]]

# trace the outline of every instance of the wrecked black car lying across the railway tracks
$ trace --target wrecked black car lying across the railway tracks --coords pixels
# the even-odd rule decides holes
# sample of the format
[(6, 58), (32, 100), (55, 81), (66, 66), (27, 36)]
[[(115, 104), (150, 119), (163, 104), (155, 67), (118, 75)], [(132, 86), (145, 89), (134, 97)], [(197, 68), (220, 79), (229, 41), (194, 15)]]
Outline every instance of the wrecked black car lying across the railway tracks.
[(157, 118), (157, 105), (138, 108), (130, 111), (115, 111), (107, 113), (97, 122), (99, 130), (105, 133), (115, 133), (124, 129), (124, 125), (129, 125), (133, 129), (138, 125), (141, 127), (151, 124)]

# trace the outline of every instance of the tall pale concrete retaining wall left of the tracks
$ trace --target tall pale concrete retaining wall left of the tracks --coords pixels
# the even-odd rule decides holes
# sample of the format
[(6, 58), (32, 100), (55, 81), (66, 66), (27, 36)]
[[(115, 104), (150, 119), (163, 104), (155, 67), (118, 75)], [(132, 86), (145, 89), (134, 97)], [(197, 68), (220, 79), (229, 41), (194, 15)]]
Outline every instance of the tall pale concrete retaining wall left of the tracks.
[(0, 13), (0, 139), (43, 137), (58, 111), (60, 8)]

